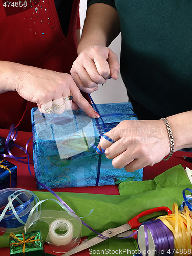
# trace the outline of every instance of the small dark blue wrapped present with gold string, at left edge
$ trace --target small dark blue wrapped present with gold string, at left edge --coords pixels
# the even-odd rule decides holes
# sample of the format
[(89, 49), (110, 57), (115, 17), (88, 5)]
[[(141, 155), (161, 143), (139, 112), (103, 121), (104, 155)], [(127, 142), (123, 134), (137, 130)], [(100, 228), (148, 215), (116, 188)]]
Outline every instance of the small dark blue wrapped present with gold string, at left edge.
[(0, 190), (17, 186), (17, 166), (0, 158)]

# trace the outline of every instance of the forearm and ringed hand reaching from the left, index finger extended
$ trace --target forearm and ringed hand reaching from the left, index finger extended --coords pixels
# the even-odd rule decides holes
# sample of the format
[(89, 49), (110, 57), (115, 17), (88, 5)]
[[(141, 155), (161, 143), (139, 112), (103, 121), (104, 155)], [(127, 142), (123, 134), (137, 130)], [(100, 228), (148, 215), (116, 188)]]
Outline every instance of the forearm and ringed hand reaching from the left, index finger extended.
[[(16, 91), (24, 99), (37, 103), (42, 113), (47, 113), (42, 108), (51, 108), (53, 104), (62, 105), (63, 97), (72, 93), (73, 109), (79, 107), (90, 117), (98, 117), (67, 73), (0, 61), (0, 93), (8, 91)], [(69, 101), (55, 113), (61, 114), (65, 108), (71, 108)]]

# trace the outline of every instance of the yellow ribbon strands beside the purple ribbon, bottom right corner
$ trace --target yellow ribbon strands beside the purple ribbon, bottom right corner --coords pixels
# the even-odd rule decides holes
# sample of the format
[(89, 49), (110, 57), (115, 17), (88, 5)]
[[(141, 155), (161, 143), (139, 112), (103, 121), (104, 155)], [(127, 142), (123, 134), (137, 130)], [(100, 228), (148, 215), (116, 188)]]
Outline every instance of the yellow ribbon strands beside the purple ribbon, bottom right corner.
[(183, 211), (178, 211), (176, 203), (173, 204), (172, 214), (159, 216), (160, 219), (174, 236), (175, 253), (174, 256), (190, 256), (192, 254), (191, 231), (192, 231), (192, 212), (187, 206)]

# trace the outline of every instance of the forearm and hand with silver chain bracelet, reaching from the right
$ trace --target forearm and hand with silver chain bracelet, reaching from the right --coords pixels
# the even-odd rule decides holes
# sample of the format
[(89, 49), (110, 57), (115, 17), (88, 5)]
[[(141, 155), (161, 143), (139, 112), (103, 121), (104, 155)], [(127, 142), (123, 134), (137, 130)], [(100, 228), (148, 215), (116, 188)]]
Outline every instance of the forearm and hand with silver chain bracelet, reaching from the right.
[[(167, 117), (174, 138), (174, 152), (192, 147), (192, 111)], [(115, 141), (101, 138), (99, 149), (112, 160), (115, 168), (133, 172), (160, 162), (170, 152), (170, 142), (163, 120), (126, 120), (120, 122), (106, 135)]]

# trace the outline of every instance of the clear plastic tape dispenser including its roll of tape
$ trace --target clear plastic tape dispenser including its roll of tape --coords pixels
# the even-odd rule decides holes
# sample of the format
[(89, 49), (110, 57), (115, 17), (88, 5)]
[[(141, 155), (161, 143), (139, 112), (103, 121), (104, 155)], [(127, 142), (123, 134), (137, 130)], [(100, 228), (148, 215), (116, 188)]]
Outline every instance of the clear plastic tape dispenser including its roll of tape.
[(65, 253), (80, 243), (82, 222), (72, 212), (41, 210), (27, 219), (24, 230), (40, 230), (42, 239), (51, 246), (53, 252)]

